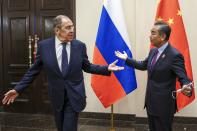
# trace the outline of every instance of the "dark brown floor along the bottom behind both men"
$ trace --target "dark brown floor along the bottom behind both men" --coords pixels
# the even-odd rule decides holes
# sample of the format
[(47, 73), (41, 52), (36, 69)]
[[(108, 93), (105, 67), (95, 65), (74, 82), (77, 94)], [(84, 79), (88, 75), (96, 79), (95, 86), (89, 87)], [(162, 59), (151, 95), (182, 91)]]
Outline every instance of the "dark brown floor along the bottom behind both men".
[[(102, 115), (103, 114), (96, 115), (97, 119), (95, 119), (95, 117), (87, 118), (82, 116), (79, 120), (78, 131), (148, 131), (146, 122), (139, 124), (139, 121), (137, 122), (136, 120), (137, 118), (126, 119), (127, 117), (116, 119), (116, 121), (114, 121), (115, 130), (110, 130), (110, 119), (103, 117), (106, 116), (106, 114)], [(89, 116), (89, 114), (85, 116)], [(131, 116), (129, 116), (129, 118), (130, 117)], [(174, 123), (173, 125), (173, 131), (197, 131), (195, 119), (192, 121), (193, 122), (187, 121), (185, 123), (177, 121), (178, 123)], [(55, 128), (53, 116), (50, 115), (0, 113), (0, 131), (57, 130)]]

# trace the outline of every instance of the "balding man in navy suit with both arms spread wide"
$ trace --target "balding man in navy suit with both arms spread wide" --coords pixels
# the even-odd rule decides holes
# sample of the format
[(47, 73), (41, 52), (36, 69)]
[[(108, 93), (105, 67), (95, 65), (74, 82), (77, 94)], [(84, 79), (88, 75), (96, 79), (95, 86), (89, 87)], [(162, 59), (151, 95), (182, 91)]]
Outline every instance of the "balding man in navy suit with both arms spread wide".
[(53, 22), (55, 37), (38, 43), (35, 63), (15, 88), (5, 94), (2, 102), (13, 103), (44, 68), (58, 131), (77, 131), (78, 114), (86, 106), (82, 70), (109, 76), (111, 71), (124, 68), (116, 66), (117, 61), (109, 66), (91, 64), (85, 44), (73, 39), (74, 25), (70, 18), (59, 15)]

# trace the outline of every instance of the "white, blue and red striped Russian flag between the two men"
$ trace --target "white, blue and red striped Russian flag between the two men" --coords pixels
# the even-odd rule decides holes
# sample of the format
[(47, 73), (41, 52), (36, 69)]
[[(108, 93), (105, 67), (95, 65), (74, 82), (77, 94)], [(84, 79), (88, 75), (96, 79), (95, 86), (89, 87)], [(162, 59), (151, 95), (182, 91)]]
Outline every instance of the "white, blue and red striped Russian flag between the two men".
[[(114, 55), (116, 50), (126, 51), (132, 58), (121, 0), (104, 0), (93, 63), (100, 65), (112, 63), (117, 59)], [(119, 60), (118, 65), (125, 66), (125, 61)], [(137, 88), (134, 69), (127, 66), (123, 71), (112, 73), (110, 77), (92, 75), (91, 84), (105, 108)]]

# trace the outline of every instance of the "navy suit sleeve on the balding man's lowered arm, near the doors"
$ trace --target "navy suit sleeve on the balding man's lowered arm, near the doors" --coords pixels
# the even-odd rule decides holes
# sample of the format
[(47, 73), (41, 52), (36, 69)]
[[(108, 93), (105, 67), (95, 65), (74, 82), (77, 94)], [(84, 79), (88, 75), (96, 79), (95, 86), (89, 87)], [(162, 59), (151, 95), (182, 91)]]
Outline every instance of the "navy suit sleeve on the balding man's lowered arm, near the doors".
[(33, 80), (36, 78), (36, 76), (40, 73), (42, 69), (40, 48), (41, 48), (40, 44), (38, 44), (37, 54), (34, 64), (28, 69), (28, 71), (25, 73), (21, 81), (14, 88), (18, 93), (21, 93), (25, 88), (27, 88), (33, 82)]

